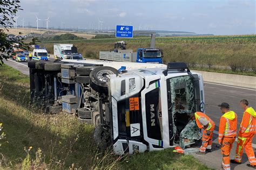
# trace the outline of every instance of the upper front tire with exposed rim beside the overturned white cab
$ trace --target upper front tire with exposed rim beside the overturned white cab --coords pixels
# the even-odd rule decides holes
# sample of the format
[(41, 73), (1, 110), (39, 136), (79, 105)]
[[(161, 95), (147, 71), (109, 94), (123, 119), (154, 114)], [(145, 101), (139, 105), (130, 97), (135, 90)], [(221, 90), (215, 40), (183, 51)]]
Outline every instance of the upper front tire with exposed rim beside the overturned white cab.
[(93, 90), (107, 94), (107, 75), (116, 74), (118, 75), (118, 70), (113, 67), (103, 66), (96, 67), (90, 73), (90, 86)]

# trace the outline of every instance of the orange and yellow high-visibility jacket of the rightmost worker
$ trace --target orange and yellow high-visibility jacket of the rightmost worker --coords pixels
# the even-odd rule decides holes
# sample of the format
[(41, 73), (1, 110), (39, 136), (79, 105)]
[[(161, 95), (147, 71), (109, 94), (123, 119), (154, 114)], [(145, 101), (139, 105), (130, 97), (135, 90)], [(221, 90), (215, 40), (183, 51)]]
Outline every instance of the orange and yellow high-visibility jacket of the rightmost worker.
[(239, 129), (240, 137), (248, 137), (256, 133), (256, 112), (252, 107), (247, 108), (242, 116), (242, 121)]

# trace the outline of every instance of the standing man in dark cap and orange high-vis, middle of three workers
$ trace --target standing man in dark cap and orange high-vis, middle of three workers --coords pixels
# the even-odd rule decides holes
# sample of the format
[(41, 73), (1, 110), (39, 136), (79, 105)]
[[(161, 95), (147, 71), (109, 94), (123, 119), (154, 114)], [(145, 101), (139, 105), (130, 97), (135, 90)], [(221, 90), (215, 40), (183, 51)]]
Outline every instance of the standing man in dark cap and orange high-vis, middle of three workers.
[(219, 144), (223, 155), (221, 167), (230, 170), (230, 152), (237, 136), (237, 114), (230, 110), (228, 103), (221, 103), (219, 107), (223, 114), (219, 124)]

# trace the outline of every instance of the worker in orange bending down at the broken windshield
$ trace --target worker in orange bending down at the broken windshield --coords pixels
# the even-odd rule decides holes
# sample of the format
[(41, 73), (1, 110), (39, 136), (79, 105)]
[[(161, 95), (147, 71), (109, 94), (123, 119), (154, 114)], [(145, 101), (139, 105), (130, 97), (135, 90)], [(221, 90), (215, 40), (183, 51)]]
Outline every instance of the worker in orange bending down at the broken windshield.
[(199, 129), (204, 129), (202, 145), (199, 148), (197, 154), (206, 154), (206, 152), (212, 152), (212, 134), (215, 128), (215, 123), (203, 112), (196, 112), (191, 117), (196, 119), (196, 123)]

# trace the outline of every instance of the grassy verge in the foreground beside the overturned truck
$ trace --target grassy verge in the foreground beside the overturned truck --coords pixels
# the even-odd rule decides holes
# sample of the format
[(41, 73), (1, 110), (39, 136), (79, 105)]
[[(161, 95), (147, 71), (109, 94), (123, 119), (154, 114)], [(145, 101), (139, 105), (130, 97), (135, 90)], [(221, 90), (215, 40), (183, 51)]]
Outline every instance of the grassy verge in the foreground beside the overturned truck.
[[(0, 169), (206, 169), (191, 155), (165, 150), (118, 157), (97, 151), (93, 127), (74, 115), (47, 115), (29, 105), (29, 77), (0, 67)], [(29, 148), (32, 146), (32, 149)], [(26, 147), (26, 148), (24, 148)]]

